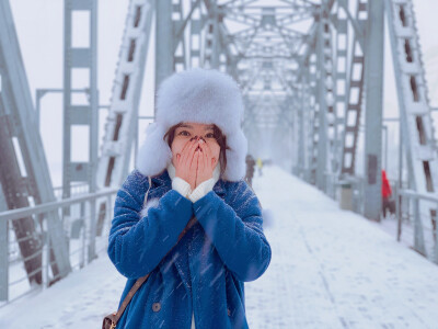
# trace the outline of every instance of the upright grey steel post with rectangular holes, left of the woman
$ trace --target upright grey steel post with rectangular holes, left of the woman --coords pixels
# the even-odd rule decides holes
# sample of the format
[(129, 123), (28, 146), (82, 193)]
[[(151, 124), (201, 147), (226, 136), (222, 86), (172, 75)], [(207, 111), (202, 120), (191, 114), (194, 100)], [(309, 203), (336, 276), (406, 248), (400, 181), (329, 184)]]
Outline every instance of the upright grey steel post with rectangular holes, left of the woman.
[[(62, 197), (71, 195), (72, 182), (88, 182), (89, 192), (96, 191), (97, 166), (97, 128), (99, 128), (99, 94), (97, 94), (97, 0), (64, 1), (64, 139), (62, 139)], [(78, 24), (74, 13), (89, 14), (88, 46), (79, 46), (72, 43), (73, 24)], [(85, 88), (85, 97), (89, 104), (78, 103), (72, 97), (73, 72), (77, 69), (88, 69), (89, 83)], [(76, 125), (89, 126), (89, 161), (72, 161), (71, 147), (78, 140), (72, 139), (71, 128)], [(70, 215), (70, 208), (66, 207), (64, 214)]]

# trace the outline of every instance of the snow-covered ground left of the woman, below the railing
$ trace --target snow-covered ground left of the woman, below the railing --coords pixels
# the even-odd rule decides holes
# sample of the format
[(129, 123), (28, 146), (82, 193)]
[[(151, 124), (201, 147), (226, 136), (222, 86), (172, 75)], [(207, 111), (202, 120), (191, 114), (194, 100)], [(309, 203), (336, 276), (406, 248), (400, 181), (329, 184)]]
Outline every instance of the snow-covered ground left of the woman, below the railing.
[(125, 279), (110, 259), (100, 258), (41, 293), (0, 308), (0, 328), (101, 328), (116, 310)]

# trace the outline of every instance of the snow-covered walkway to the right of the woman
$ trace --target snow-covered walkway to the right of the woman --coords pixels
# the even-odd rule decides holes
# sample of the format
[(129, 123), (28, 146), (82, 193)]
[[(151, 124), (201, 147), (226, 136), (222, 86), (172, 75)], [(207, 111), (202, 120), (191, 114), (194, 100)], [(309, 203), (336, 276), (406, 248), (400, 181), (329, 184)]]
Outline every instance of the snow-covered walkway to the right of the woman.
[(436, 264), (314, 186), (264, 173), (273, 259), (245, 285), (251, 328), (438, 328)]

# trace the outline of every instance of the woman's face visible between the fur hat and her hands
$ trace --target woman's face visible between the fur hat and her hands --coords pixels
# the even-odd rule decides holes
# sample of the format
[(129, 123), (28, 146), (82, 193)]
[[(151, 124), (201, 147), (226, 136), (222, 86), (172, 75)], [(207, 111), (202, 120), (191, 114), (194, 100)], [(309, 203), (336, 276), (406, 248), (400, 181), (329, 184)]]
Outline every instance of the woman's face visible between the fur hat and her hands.
[(171, 150), (173, 166), (175, 166), (176, 163), (176, 155), (181, 155), (184, 145), (196, 136), (204, 138), (211, 150), (211, 157), (217, 160), (217, 163), (219, 163), (218, 159), (220, 154), (220, 146), (214, 137), (212, 125), (200, 123), (184, 123), (182, 126), (175, 129), (175, 137), (172, 141)]

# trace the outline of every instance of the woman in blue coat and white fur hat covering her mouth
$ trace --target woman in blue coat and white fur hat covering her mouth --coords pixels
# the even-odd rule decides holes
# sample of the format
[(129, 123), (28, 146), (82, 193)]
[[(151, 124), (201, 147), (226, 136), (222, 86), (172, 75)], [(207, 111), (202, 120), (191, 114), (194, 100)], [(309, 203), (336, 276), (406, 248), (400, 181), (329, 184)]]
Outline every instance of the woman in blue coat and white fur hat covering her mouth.
[(217, 70), (160, 86), (155, 122), (115, 201), (108, 256), (128, 279), (120, 304), (151, 273), (117, 328), (247, 328), (243, 283), (266, 271), (270, 246), (244, 181), (242, 117), (238, 84)]

